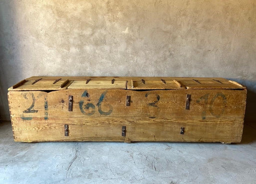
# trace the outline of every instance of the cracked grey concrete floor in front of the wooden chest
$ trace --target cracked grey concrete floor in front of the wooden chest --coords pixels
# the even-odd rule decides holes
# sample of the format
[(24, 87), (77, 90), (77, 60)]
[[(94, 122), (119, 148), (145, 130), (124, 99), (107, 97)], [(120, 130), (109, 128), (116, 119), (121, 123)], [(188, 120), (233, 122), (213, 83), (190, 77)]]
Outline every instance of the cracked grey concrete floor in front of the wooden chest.
[(240, 144), (12, 140), (0, 123), (0, 184), (256, 184), (256, 125)]

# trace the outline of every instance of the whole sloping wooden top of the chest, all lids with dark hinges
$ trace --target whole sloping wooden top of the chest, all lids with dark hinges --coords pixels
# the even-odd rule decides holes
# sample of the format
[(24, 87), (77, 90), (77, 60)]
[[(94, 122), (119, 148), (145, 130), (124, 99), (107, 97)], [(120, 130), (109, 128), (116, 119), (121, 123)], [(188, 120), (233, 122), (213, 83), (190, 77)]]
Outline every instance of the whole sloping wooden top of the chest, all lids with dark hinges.
[(10, 87), (11, 91), (63, 89), (246, 89), (224, 78), (203, 77), (85, 77), (32, 76)]

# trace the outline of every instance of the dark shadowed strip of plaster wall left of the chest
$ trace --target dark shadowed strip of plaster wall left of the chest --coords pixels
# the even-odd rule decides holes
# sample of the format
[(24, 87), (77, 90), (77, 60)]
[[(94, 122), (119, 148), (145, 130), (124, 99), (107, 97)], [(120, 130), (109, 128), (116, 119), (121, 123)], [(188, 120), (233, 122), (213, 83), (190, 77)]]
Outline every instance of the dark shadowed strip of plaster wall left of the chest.
[[(16, 1), (0, 1), (0, 119), (10, 120), (7, 89), (23, 78)], [(13, 31), (16, 30), (16, 31)], [(14, 75), (15, 74), (15, 75)], [(15, 76), (20, 76), (17, 78)]]

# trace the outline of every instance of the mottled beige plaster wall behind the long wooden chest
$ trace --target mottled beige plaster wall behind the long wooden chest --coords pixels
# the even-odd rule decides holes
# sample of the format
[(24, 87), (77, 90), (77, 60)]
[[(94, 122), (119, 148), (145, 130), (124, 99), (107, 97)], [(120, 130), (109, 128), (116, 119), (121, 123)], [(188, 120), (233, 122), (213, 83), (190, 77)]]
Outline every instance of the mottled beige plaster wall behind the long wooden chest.
[(1, 0), (0, 69), (1, 119), (35, 75), (225, 77), (248, 87), (249, 117), (256, 0)]

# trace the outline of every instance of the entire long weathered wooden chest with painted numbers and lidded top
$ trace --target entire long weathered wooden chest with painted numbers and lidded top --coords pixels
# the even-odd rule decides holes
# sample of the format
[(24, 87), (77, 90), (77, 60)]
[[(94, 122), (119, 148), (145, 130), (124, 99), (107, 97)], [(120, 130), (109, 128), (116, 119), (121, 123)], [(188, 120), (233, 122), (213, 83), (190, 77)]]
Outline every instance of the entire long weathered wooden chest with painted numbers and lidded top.
[(246, 87), (224, 78), (32, 76), (8, 90), (14, 141), (242, 139)]

